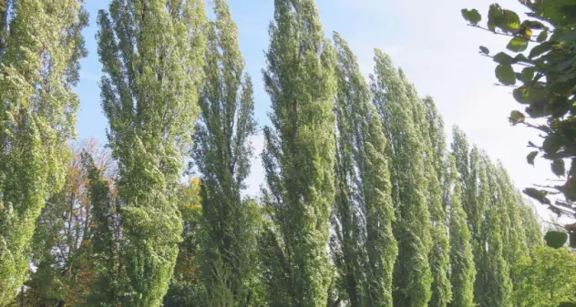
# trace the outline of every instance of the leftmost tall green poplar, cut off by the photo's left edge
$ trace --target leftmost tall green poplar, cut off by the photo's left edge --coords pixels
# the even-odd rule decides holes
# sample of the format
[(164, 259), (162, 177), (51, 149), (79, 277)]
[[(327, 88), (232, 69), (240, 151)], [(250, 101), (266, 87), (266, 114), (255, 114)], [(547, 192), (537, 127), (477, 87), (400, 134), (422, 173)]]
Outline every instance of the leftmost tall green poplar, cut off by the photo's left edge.
[(74, 135), (83, 1), (0, 1), (0, 306), (26, 279), (46, 200), (66, 178)]

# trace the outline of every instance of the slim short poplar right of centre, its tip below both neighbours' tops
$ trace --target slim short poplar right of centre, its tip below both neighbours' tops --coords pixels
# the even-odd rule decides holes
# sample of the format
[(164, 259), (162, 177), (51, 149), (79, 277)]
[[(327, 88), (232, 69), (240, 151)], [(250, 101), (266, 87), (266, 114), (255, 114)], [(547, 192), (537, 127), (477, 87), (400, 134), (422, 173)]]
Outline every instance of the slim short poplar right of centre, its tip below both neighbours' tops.
[(451, 159), (453, 192), (450, 195), (449, 233), (450, 233), (450, 281), (452, 284), (451, 307), (474, 306), (474, 282), (476, 267), (470, 242), (470, 230), (466, 212), (462, 209), (462, 188), (455, 159)]

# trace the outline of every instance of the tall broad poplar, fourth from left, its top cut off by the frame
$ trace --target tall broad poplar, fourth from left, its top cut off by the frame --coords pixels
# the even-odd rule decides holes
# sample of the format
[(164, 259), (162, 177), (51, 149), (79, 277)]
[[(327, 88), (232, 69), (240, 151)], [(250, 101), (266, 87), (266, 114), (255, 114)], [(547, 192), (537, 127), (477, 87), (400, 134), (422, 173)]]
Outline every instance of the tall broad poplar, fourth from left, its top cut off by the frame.
[(263, 71), (272, 102), (264, 128), (264, 206), (273, 225), (262, 234), (273, 306), (325, 306), (326, 252), (334, 200), (334, 49), (313, 0), (275, 0)]

